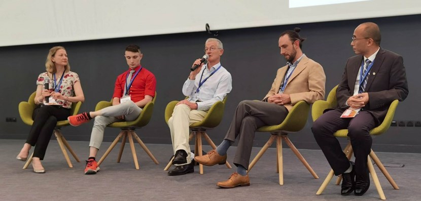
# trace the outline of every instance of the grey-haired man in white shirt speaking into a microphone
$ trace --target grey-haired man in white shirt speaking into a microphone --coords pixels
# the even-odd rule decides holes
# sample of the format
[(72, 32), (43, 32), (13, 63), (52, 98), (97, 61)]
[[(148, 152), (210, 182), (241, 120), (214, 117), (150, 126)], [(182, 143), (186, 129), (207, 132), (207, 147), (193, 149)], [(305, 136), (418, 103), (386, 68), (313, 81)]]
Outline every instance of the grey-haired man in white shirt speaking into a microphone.
[[(203, 64), (202, 59), (194, 61), (193, 71), (190, 72), (182, 90), (189, 98), (177, 103), (168, 119), (174, 150), (172, 164), (176, 166), (168, 171), (170, 176), (194, 172), (189, 126), (203, 120), (207, 110), (217, 101), (222, 101), (232, 89), (231, 74), (220, 62), (224, 53), (222, 42), (216, 38), (208, 38), (204, 51), (208, 56), (207, 64)], [(198, 67), (194, 69), (196, 66)]]

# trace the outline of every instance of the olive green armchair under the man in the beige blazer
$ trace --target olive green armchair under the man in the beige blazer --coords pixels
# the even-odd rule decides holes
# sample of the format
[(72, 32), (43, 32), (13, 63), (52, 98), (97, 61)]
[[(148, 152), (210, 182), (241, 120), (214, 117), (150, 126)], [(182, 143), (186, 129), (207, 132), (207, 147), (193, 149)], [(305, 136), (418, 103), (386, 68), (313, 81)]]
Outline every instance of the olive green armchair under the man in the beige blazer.
[(291, 111), (288, 113), (285, 120), (279, 125), (274, 126), (264, 126), (257, 129), (257, 132), (270, 132), (271, 136), (266, 144), (262, 147), (256, 157), (252, 160), (252, 163), (249, 165), (249, 171), (252, 170), (254, 165), (258, 162), (260, 157), (265, 153), (265, 151), (272, 145), (273, 141), (276, 139), (276, 172), (279, 173), (279, 185), (284, 185), (284, 167), (283, 167), (283, 156), (282, 156), (282, 140), (284, 140), (291, 150), (297, 155), (301, 163), (307, 168), (310, 174), (315, 178), (319, 179), (319, 176), (313, 171), (298, 149), (294, 146), (291, 140), (288, 138), (289, 133), (296, 133), (304, 128), (305, 123), (307, 122), (308, 112), (310, 110), (310, 105), (305, 101), (299, 101)]

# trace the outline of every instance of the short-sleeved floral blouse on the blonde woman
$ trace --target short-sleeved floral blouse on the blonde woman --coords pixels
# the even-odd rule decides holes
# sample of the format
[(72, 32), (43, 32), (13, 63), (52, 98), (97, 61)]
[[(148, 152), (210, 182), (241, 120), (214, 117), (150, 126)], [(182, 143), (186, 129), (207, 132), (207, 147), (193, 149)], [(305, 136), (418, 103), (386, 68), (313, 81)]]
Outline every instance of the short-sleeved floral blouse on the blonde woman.
[[(38, 76), (37, 85), (44, 85), (46, 79), (50, 80), (50, 88), (52, 88), (54, 79), (51, 79), (47, 72), (43, 72)], [(64, 72), (63, 81), (61, 82), (60, 89), (58, 90), (58, 93), (60, 93), (63, 96), (69, 96), (72, 97), (75, 95), (75, 90), (73, 89), (73, 85), (76, 82), (80, 82), (79, 75), (76, 72), (68, 71)], [(56, 85), (60, 85), (60, 78), (56, 78)], [(72, 102), (65, 101), (65, 100), (56, 100), (56, 102), (60, 105), (63, 105), (64, 108), (72, 108)]]

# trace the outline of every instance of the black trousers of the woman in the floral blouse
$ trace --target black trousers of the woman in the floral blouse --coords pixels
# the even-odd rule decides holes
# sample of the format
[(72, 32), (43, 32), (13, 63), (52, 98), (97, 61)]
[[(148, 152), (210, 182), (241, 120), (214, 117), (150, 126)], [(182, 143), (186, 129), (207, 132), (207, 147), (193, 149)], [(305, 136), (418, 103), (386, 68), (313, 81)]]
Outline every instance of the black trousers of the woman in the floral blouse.
[(45, 151), (57, 122), (66, 120), (69, 115), (70, 109), (60, 106), (41, 105), (33, 110), (33, 124), (26, 139), (26, 143), (35, 146), (33, 157), (44, 159)]

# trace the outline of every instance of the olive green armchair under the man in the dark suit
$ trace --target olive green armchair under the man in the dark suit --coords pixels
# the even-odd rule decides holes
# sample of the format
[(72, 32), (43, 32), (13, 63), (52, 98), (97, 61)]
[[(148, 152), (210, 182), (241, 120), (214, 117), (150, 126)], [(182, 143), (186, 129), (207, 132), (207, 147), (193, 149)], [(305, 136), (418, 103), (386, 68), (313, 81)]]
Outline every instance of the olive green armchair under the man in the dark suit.
[[(334, 87), (330, 91), (326, 101), (319, 100), (319, 101), (314, 102), (312, 110), (311, 110), (313, 122), (317, 118), (319, 118), (326, 109), (333, 108), (337, 105), (337, 102), (336, 102), (336, 89), (337, 89), (337, 87), (338, 86)], [(394, 100), (392, 102), (392, 104), (389, 107), (388, 113), (386, 114), (386, 117), (384, 118), (383, 122), (378, 127), (372, 129), (370, 131), (370, 135), (372, 135), (372, 136), (381, 135), (381, 134), (385, 133), (386, 131), (388, 131), (388, 129), (389, 129), (391, 123), (392, 123), (393, 116), (395, 115), (395, 111), (396, 111), (396, 107), (398, 106), (398, 103), (399, 103), (398, 100)], [(348, 130), (342, 129), (342, 130), (336, 131), (333, 135), (335, 137), (338, 137), (338, 138), (347, 138), (348, 137), (347, 134), (348, 134)], [(348, 159), (350, 159), (352, 157), (353, 149), (352, 149), (352, 146), (351, 146), (350, 142), (348, 142), (348, 144), (346, 145), (346, 147), (343, 151), (345, 152)], [(368, 157), (368, 162), (367, 162), (368, 163), (368, 169), (369, 169), (369, 172), (370, 172), (371, 177), (373, 179), (373, 183), (376, 186), (376, 189), (377, 189), (377, 192), (380, 196), (380, 199), (385, 200), (386, 197), (384, 195), (383, 189), (381, 188), (380, 182), (378, 180), (377, 174), (374, 170), (374, 166), (371, 162), (370, 157), (371, 157), (371, 159), (373, 159), (374, 163), (377, 165), (377, 167), (380, 169), (380, 171), (383, 173), (383, 175), (388, 179), (388, 181), (393, 186), (393, 188), (399, 189), (399, 186), (396, 184), (396, 182), (390, 176), (389, 172), (384, 168), (383, 164), (381, 163), (381, 161), (377, 157), (377, 155), (374, 153), (373, 149), (371, 149), (371, 152), (370, 152), (369, 157)], [(322, 192), (325, 190), (326, 186), (332, 180), (333, 175), (334, 175), (333, 170), (331, 170), (329, 172), (328, 176), (326, 177), (325, 181), (320, 186), (320, 188), (319, 188), (319, 190), (317, 191), (316, 194), (318, 194), (318, 195), (322, 194)], [(338, 179), (336, 180), (336, 185), (339, 185), (340, 181), (341, 181), (341, 177), (338, 177)]]

